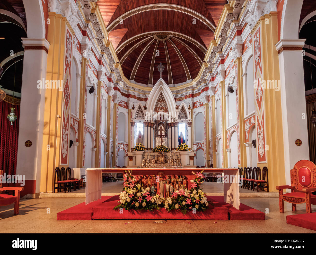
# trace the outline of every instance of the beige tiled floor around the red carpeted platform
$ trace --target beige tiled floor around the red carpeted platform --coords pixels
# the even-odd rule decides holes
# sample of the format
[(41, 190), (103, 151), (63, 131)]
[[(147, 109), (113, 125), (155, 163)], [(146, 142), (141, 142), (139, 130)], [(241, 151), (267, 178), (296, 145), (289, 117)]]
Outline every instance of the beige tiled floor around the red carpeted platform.
[[(200, 221), (168, 220), (93, 220), (57, 221), (57, 213), (84, 202), (84, 198), (22, 199), (20, 214), (13, 215), (13, 205), (0, 211), (0, 233), (316, 233), (286, 223), (286, 215), (305, 213), (305, 205), (284, 203), (285, 213), (279, 212), (278, 198), (241, 198), (240, 202), (269, 213), (265, 221)], [(47, 213), (48, 210), (50, 213)], [(312, 206), (313, 212), (316, 206)]]

